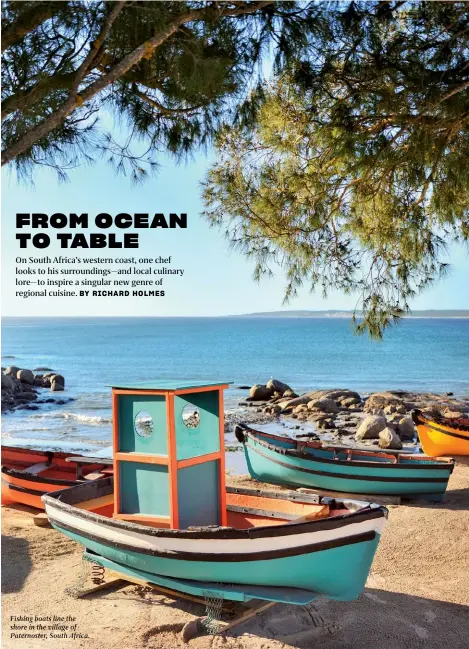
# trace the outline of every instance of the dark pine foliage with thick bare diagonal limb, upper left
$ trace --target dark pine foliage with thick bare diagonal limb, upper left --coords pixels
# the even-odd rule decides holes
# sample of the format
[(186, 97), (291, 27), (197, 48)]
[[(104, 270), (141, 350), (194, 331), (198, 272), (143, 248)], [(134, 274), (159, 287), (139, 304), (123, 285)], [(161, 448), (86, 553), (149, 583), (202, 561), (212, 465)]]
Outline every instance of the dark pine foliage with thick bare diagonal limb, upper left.
[(7, 0), (2, 164), (28, 181), (37, 165), (65, 179), (104, 157), (143, 180), (160, 151), (181, 158), (224, 122), (252, 123), (263, 62), (299, 60), (317, 13), (272, 0)]

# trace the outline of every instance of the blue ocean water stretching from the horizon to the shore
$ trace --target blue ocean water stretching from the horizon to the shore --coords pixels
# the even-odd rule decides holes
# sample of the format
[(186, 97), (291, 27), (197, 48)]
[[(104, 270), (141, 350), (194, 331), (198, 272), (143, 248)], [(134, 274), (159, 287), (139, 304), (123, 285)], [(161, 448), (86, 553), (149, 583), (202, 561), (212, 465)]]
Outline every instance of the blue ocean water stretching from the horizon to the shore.
[(73, 397), (3, 418), (3, 443), (109, 455), (109, 384), (151, 379), (226, 381), (227, 410), (240, 385), (271, 377), (297, 392), (350, 388), (468, 394), (469, 320), (406, 319), (381, 343), (345, 318), (5, 318), (2, 366), (44, 366)]

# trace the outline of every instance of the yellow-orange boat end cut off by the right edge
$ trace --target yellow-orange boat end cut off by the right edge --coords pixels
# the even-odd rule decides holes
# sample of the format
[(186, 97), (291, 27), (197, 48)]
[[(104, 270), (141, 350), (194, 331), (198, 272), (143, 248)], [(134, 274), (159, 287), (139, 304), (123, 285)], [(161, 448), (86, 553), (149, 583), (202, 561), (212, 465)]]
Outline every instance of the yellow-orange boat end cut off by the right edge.
[(469, 455), (469, 419), (448, 419), (412, 412), (420, 444), (427, 455)]

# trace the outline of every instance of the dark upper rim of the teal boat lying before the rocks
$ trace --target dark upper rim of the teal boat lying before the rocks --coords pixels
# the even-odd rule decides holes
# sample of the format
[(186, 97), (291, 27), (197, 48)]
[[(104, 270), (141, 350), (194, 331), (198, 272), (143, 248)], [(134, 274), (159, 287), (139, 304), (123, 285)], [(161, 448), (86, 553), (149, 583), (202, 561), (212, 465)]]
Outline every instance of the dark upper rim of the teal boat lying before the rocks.
[[(353, 460), (353, 459), (350, 459), (350, 460), (338, 460), (338, 459), (333, 460), (333, 459), (329, 459), (329, 458), (314, 457), (310, 453), (306, 453), (304, 451), (301, 451), (298, 448), (289, 449), (289, 448), (282, 448), (280, 446), (276, 446), (275, 444), (267, 442), (265, 439), (259, 439), (258, 436), (269, 437), (271, 439), (277, 439), (277, 440), (283, 441), (283, 442), (285, 442), (285, 441), (286, 442), (292, 442), (293, 444), (298, 445), (298, 440), (295, 440), (292, 437), (281, 437), (280, 435), (272, 435), (271, 433), (264, 433), (262, 431), (255, 430), (254, 428), (250, 428), (248, 426), (245, 427), (245, 428), (242, 428), (242, 431), (243, 431), (244, 435), (246, 435), (248, 437), (253, 437), (258, 444), (268, 448), (271, 451), (274, 451), (275, 453), (279, 453), (280, 455), (289, 455), (291, 457), (308, 460), (310, 462), (319, 462), (319, 463), (323, 463), (323, 464), (334, 464), (335, 466), (346, 466), (346, 467), (356, 466), (356, 467), (373, 468), (373, 469), (376, 469), (376, 468), (401, 469), (401, 470), (402, 469), (403, 470), (418, 469), (418, 470), (427, 470), (427, 471), (435, 470), (435, 469), (438, 469), (438, 470), (441, 469), (441, 470), (447, 470), (448, 474), (451, 474), (453, 472), (453, 469), (454, 469), (454, 460), (453, 460), (453, 458), (450, 458), (450, 457), (448, 457), (448, 458), (444, 458), (444, 457), (433, 458), (433, 457), (429, 457), (429, 456), (424, 456), (424, 457), (420, 458), (420, 457), (417, 457), (417, 456), (412, 456), (412, 460), (415, 460), (415, 464), (412, 462), (412, 464), (410, 464), (408, 466), (405, 466), (404, 464), (399, 464), (397, 462), (393, 463), (393, 464), (391, 464), (391, 463), (388, 464), (388, 463), (385, 463), (385, 462), (364, 462), (364, 461), (361, 461), (361, 460)], [(253, 448), (253, 447), (251, 446), (250, 448)], [(318, 450), (327, 451), (327, 450), (334, 450), (335, 448), (336, 447), (334, 447), (334, 446), (326, 446), (326, 447), (321, 447)], [(341, 447), (340, 450), (343, 451), (344, 449)], [(362, 451), (362, 449), (353, 449), (353, 450), (357, 450), (357, 452)], [(366, 453), (367, 451), (363, 449), (363, 452)], [(428, 460), (431, 460), (431, 462), (428, 462)], [(419, 464), (420, 462), (422, 462), (422, 464)], [(423, 462), (426, 462), (426, 464), (424, 464)], [(332, 474), (327, 473), (327, 475), (332, 475)], [(350, 475), (346, 476), (344, 474), (343, 476), (339, 476), (339, 477), (354, 478), (356, 476), (350, 476)], [(360, 476), (360, 477), (363, 478), (364, 480), (369, 479), (368, 476)], [(372, 476), (372, 478), (376, 479), (376, 480), (379, 480), (380, 476)], [(390, 479), (392, 479), (392, 478), (390, 478)], [(405, 478), (405, 476), (402, 476), (402, 478), (398, 478), (398, 479), (405, 480), (406, 478)], [(444, 478), (442, 478), (441, 480), (443, 480), (443, 479)], [(417, 478), (417, 480), (418, 480), (418, 478)], [(438, 479), (438, 481), (440, 481), (440, 482), (441, 482), (441, 480)]]

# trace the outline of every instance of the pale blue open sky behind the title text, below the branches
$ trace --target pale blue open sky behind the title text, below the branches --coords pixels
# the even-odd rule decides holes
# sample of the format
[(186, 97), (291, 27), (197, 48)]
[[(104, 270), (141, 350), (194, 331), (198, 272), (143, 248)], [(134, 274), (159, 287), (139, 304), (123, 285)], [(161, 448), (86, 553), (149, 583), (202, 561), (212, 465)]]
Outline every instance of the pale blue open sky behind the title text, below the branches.
[[(241, 253), (230, 251), (221, 232), (209, 227), (200, 216), (203, 209), (200, 181), (209, 158), (199, 154), (188, 164), (176, 165), (162, 156), (156, 178), (133, 186), (128, 178), (116, 176), (103, 162), (69, 173), (70, 182), (59, 184), (56, 175), (41, 170), (35, 186), (17, 184), (13, 174), (2, 172), (2, 310), (5, 316), (216, 316), (288, 309), (351, 309), (353, 296), (339, 292), (323, 299), (308, 289), (288, 307), (282, 305), (285, 280), (280, 269), (273, 279), (256, 284), (253, 263)], [(65, 251), (51, 243), (45, 250), (20, 250), (15, 239), (17, 212), (88, 212), (90, 219), (100, 212), (186, 212), (187, 230), (139, 230), (140, 247), (126, 251), (141, 257), (172, 256), (173, 267), (184, 268), (183, 278), (165, 277), (164, 298), (20, 298), (15, 297), (15, 259), (78, 254), (122, 256), (123, 250)], [(96, 228), (90, 231), (96, 231)], [(48, 231), (54, 234), (54, 230)], [(117, 231), (122, 235), (122, 230)], [(459, 247), (450, 250), (452, 270), (448, 278), (417, 297), (413, 309), (469, 308), (469, 257)]]

